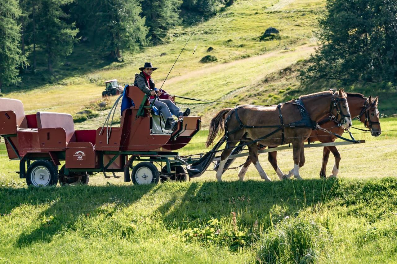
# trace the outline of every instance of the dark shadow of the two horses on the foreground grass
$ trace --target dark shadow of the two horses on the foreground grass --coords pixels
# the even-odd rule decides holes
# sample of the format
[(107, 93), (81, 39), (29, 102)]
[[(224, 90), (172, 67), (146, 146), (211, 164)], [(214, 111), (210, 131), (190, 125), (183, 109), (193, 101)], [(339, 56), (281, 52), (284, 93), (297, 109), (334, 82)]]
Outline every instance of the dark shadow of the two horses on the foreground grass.
[[(212, 218), (236, 212), (238, 224), (251, 228), (258, 221), (264, 229), (285, 216), (318, 207), (334, 198), (335, 180), (284, 180), (274, 182), (192, 183), (182, 198), (175, 194), (157, 210), (169, 228), (206, 224)], [(179, 226), (175, 226), (178, 223)]]

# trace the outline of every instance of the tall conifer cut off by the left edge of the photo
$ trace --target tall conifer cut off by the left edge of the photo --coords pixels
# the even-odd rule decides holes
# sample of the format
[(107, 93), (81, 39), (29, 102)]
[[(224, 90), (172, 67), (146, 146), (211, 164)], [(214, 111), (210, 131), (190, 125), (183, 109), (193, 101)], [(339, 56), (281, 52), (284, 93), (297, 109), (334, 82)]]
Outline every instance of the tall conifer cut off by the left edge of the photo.
[(3, 84), (19, 82), (17, 67), (25, 61), (19, 49), (21, 27), (17, 19), (21, 15), (17, 0), (0, 1), (0, 89)]

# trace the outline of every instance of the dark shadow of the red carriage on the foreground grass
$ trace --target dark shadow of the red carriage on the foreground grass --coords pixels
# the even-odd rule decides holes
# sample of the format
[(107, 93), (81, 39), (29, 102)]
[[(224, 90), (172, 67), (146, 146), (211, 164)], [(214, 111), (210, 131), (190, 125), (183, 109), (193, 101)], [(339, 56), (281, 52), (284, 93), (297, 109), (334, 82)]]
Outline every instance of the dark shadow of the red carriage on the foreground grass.
[[(50, 188), (0, 189), (0, 193), (15, 197), (8, 199), (7, 205), (0, 211), (10, 212), (21, 204), (49, 205), (37, 216), (31, 228), (26, 228), (16, 241), (17, 247), (27, 247), (33, 243), (52, 241), (54, 235), (67, 228), (73, 228), (80, 216), (95, 217), (103, 214), (102, 205), (112, 203), (113, 212), (119, 208), (136, 203), (143, 195), (150, 192), (154, 185), (147, 186), (67, 186)], [(3, 197), (4, 198), (4, 197)], [(37, 220), (39, 226), (37, 227)]]

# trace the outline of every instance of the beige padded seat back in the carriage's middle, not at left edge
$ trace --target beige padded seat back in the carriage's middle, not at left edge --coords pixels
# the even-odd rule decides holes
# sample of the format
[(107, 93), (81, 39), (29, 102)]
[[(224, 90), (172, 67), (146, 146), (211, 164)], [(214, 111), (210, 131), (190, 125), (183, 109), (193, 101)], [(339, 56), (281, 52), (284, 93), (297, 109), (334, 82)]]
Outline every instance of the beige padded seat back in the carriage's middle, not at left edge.
[(75, 142), (73, 117), (64, 113), (37, 112), (38, 128), (63, 128), (66, 132), (66, 142)]

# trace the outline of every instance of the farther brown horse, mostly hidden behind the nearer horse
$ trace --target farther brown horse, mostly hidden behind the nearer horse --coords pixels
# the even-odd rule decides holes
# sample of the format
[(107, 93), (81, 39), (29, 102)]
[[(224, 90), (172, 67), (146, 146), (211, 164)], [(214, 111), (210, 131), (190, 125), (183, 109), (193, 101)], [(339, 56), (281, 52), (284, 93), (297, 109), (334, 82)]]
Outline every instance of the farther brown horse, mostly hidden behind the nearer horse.
[[(349, 109), (351, 116), (358, 117), (360, 121), (364, 124), (366, 128), (369, 128), (372, 136), (379, 136), (382, 133), (379, 122), (379, 111), (378, 111), (378, 96), (373, 100), (372, 96), (366, 98), (362, 94), (357, 93), (347, 93), (347, 102), (349, 103)], [(342, 135), (344, 129), (338, 126), (339, 123), (335, 119), (331, 119), (331, 116), (326, 117), (319, 122), (322, 128), (333, 132), (339, 136)], [(312, 134), (308, 138), (308, 141), (315, 142), (320, 141), (322, 143), (335, 142), (336, 136), (331, 135), (322, 130), (313, 130)], [(258, 149), (264, 149), (266, 146), (258, 146)], [(326, 178), (326, 167), (328, 163), (328, 157), (332, 152), (335, 157), (335, 164), (332, 169), (332, 174), (330, 178), (336, 178), (339, 172), (339, 162), (341, 160), (341, 155), (335, 146), (324, 147), (323, 149), (323, 162), (320, 170), (320, 177)], [(282, 176), (282, 172), (277, 165), (277, 151), (269, 152), (268, 160), (278, 176)], [(247, 172), (248, 166), (252, 163), (251, 159), (248, 157), (244, 165), (239, 171), (239, 179), (243, 180), (244, 175)], [(291, 174), (291, 172), (290, 172)], [(288, 175), (290, 175), (288, 174)]]

